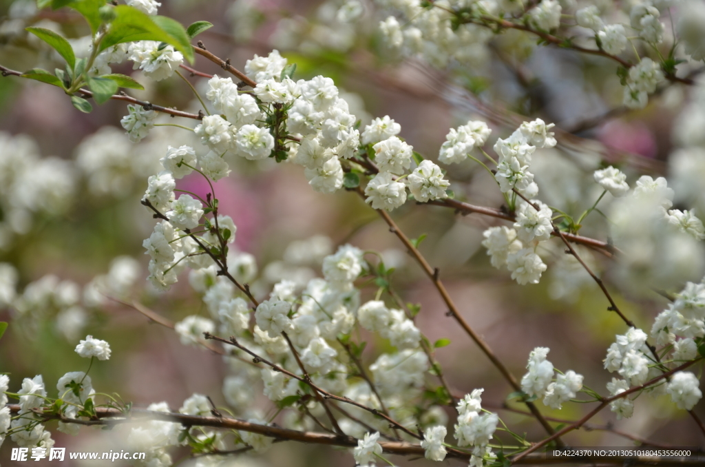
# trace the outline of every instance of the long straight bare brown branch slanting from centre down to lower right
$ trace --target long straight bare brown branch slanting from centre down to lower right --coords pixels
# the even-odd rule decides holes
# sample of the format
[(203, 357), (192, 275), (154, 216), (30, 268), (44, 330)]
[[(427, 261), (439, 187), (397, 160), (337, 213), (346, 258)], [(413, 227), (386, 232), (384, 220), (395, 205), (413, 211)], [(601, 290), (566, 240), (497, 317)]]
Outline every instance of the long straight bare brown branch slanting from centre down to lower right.
[[(357, 194), (360, 195), (364, 200), (364, 193), (362, 193), (360, 187), (357, 187), (356, 191)], [(443, 302), (445, 302), (448, 306), (448, 313), (450, 313), (450, 315), (455, 318), (455, 320), (458, 322), (458, 324), (460, 324), (462, 329), (464, 329), (467, 335), (470, 336), (470, 339), (474, 341), (474, 343), (480, 348), (480, 350), (482, 350), (482, 353), (484, 353), (485, 356), (489, 358), (492, 364), (497, 368), (497, 370), (501, 372), (502, 376), (505, 380), (507, 380), (510, 386), (513, 387), (515, 391), (521, 391), (522, 387), (517, 381), (517, 379), (514, 377), (514, 375), (508, 370), (508, 368), (504, 366), (501, 360), (499, 360), (499, 358), (494, 354), (492, 349), (489, 348), (484, 339), (482, 339), (479, 334), (474, 332), (474, 329), (472, 329), (472, 327), (470, 327), (467, 321), (465, 321), (465, 318), (462, 317), (462, 315), (460, 314), (460, 310), (458, 310), (458, 307), (455, 306), (453, 299), (450, 298), (450, 295), (446, 290), (446, 286), (443, 285), (443, 282), (439, 278), (439, 273), (437, 272), (437, 269), (434, 269), (431, 267), (431, 265), (429, 265), (426, 258), (421, 254), (421, 252), (419, 252), (419, 250), (417, 250), (414, 245), (412, 245), (409, 238), (405, 235), (403, 231), (399, 229), (399, 227), (396, 225), (396, 223), (386, 211), (376, 210), (376, 212), (382, 217), (382, 219), (384, 219), (384, 222), (387, 223), (387, 225), (389, 226), (389, 231), (391, 231), (391, 233), (394, 233), (399, 238), (399, 240), (404, 244), (409, 253), (411, 253), (411, 255), (419, 263), (422, 269), (424, 269), (426, 275), (429, 277), (429, 279), (431, 279), (431, 282), (433, 282), (434, 286), (436, 286), (436, 290), (439, 291), (441, 298), (443, 298)], [(539, 423), (541, 423), (541, 426), (544, 427), (544, 430), (546, 430), (548, 434), (552, 435), (554, 433), (553, 427), (551, 427), (551, 425), (546, 421), (544, 416), (541, 415), (541, 412), (539, 412), (537, 406), (535, 406), (533, 402), (526, 402), (525, 404), (529, 408), (529, 411), (534, 414), (534, 417), (537, 418)], [(562, 445), (560, 439), (558, 439), (557, 443), (559, 445)]]

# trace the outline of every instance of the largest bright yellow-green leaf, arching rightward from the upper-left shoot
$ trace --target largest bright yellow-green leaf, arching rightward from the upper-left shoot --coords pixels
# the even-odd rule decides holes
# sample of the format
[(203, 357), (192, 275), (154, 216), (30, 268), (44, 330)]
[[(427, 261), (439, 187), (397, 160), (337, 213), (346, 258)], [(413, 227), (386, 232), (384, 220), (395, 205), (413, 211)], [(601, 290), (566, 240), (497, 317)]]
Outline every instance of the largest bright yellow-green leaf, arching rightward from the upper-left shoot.
[(109, 32), (100, 42), (99, 51), (115, 44), (138, 40), (166, 42), (180, 51), (193, 63), (193, 49), (186, 30), (176, 20), (164, 16), (148, 16), (142, 11), (127, 5), (115, 7), (116, 18)]

